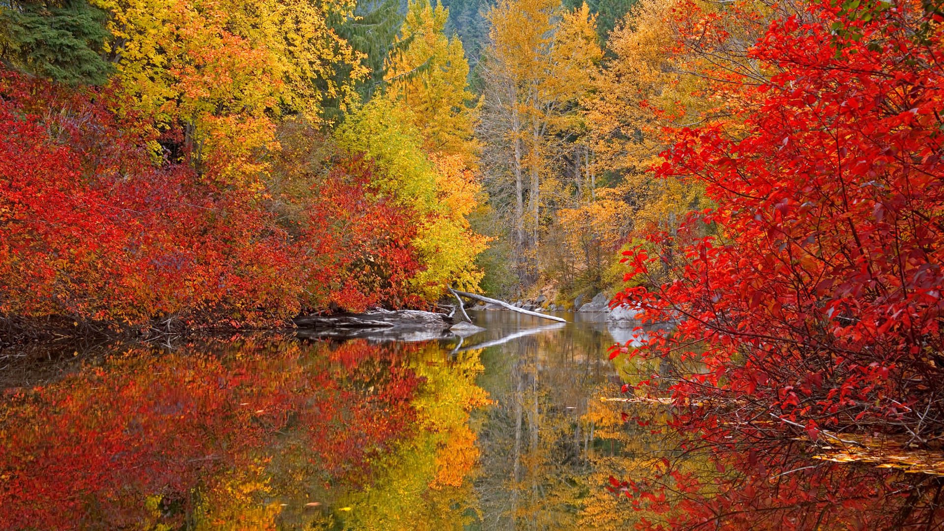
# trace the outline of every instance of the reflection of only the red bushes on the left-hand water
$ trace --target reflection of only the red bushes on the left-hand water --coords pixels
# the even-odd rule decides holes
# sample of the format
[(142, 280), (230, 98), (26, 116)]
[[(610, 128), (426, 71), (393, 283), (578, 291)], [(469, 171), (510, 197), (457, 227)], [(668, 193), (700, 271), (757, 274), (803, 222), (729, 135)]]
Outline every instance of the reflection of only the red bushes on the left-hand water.
[(13, 397), (0, 406), (0, 527), (144, 522), (146, 496), (192, 504), (194, 488), (278, 458), (285, 437), (332, 482), (367, 481), (371, 460), (411, 434), (409, 348), (278, 345), (131, 349)]

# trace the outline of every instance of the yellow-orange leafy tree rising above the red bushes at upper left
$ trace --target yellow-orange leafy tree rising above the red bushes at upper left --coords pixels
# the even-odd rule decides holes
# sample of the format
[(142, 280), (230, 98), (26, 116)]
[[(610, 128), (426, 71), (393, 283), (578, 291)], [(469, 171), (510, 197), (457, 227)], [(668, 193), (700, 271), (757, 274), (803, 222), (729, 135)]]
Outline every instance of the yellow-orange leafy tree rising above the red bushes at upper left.
[(171, 156), (188, 153), (214, 180), (258, 186), (261, 155), (278, 149), (274, 118), (289, 109), (316, 120), (326, 95), (353, 94), (333, 82), (315, 90), (340, 62), (353, 65), (353, 77), (364, 75), (357, 54), (327, 25), (329, 16), (350, 12), (346, 2), (93, 4), (110, 14), (112, 83), (126, 94), (128, 111), (153, 122)]

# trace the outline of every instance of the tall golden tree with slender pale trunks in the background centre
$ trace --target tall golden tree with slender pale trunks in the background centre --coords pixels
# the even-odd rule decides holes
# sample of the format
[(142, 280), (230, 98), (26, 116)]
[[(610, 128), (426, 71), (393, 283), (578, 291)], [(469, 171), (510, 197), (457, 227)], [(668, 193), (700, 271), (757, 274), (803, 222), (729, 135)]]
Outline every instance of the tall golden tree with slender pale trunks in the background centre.
[[(558, 155), (555, 138), (579, 125), (588, 73), (602, 57), (596, 21), (584, 5), (567, 12), (554, 0), (504, 0), (488, 13), (486, 123), (482, 130), (502, 151), (514, 193), (513, 239), (520, 276), (536, 280), (542, 227), (542, 180)], [(527, 196), (527, 205), (525, 198)]]

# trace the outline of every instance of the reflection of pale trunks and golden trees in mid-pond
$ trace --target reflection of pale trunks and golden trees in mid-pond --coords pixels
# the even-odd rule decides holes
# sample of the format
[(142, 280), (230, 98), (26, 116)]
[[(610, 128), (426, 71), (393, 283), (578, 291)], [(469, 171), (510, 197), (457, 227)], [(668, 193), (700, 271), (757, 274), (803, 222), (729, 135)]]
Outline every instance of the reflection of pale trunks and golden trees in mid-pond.
[(603, 336), (579, 334), (586, 336), (534, 334), (501, 347), (502, 361), (491, 362), (503, 364), (489, 368), (502, 378), (483, 381), (497, 406), (480, 438), (488, 473), (476, 483), (488, 528), (579, 528), (593, 444), (580, 419), (590, 391), (611, 373)]

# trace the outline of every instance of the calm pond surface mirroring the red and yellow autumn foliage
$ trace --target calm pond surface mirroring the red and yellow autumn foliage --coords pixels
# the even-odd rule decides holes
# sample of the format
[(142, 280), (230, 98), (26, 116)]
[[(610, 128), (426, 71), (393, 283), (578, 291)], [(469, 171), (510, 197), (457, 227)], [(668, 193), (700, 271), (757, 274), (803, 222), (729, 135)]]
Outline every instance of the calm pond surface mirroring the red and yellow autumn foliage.
[(462, 340), (4, 352), (0, 528), (940, 525), (936, 476), (666, 430), (668, 404), (620, 393), (663, 369), (617, 371), (626, 331), (473, 318), (487, 330)]

